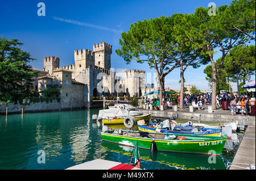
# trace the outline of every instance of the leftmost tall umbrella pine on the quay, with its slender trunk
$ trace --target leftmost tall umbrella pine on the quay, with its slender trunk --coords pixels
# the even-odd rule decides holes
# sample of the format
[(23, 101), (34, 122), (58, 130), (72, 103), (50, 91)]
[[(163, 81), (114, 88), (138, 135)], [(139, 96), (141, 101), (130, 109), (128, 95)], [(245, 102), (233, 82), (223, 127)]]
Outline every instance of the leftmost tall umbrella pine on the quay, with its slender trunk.
[[(121, 48), (115, 50), (127, 64), (134, 59), (140, 64), (147, 62), (149, 68), (154, 68), (160, 90), (164, 90), (164, 77), (177, 67), (177, 62), (171, 57), (175, 52), (173, 27), (174, 19), (166, 16), (135, 22), (129, 31), (121, 33)], [(162, 92), (162, 102), (161, 96)]]

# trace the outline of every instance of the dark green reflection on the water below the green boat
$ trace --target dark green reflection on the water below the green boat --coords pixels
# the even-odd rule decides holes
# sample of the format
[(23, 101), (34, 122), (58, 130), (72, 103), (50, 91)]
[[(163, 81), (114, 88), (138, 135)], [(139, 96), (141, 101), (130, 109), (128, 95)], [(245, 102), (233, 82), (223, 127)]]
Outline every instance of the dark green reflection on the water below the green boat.
[[(116, 154), (122, 154), (131, 159), (133, 148), (112, 144), (102, 141), (102, 149), (108, 150)], [(185, 153), (169, 153), (156, 151), (151, 153), (150, 150), (140, 149), (141, 166), (145, 169), (184, 169), (184, 170), (224, 170), (225, 165), (221, 157), (210, 157), (208, 155), (185, 154)], [(216, 159), (213, 161), (213, 159)], [(125, 159), (123, 159), (124, 161)], [(127, 159), (126, 159), (127, 160)], [(122, 160), (120, 160), (122, 161)]]

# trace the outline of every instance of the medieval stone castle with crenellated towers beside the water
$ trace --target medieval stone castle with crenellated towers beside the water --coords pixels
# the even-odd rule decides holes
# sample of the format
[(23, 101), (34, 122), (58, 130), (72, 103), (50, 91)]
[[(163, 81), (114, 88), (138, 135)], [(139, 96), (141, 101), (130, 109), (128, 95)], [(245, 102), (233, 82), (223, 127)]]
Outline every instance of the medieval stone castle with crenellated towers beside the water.
[(93, 50), (74, 51), (75, 64), (59, 66), (59, 57), (44, 57), (43, 70), (35, 89), (42, 91), (57, 85), (61, 108), (90, 107), (93, 96), (141, 96), (146, 93), (145, 71), (126, 70), (125, 79), (117, 77), (111, 68), (112, 45), (97, 43)]

